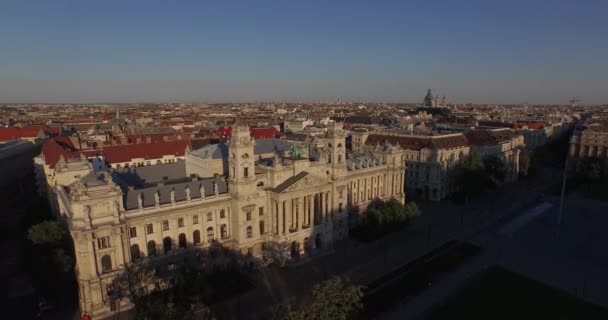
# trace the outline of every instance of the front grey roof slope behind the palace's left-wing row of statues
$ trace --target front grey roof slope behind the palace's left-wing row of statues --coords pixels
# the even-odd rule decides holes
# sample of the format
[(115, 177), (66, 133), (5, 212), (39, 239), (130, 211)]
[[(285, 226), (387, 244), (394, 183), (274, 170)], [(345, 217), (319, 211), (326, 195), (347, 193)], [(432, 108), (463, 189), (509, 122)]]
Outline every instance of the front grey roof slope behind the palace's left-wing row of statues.
[(138, 208), (138, 197), (140, 194), (143, 195), (143, 206), (151, 207), (154, 206), (155, 199), (154, 193), (160, 192), (160, 203), (170, 203), (171, 202), (171, 190), (175, 190), (175, 201), (183, 201), (186, 200), (186, 187), (190, 189), (190, 198), (196, 199), (200, 198), (200, 187), (201, 185), (205, 189), (205, 196), (214, 195), (214, 183), (218, 186), (218, 191), (220, 194), (224, 194), (228, 192), (228, 184), (226, 180), (222, 178), (209, 178), (209, 179), (201, 179), (199, 181), (189, 181), (189, 182), (180, 182), (170, 185), (163, 185), (158, 187), (148, 187), (139, 190), (127, 190), (124, 195), (124, 206), (125, 209), (137, 209)]

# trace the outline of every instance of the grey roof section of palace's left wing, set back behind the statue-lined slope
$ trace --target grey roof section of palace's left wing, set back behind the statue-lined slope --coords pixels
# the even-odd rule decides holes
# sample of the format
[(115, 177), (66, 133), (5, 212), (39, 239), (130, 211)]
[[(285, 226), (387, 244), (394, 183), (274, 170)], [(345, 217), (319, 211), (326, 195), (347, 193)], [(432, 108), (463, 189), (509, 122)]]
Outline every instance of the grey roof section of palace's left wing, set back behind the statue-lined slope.
[(116, 169), (114, 180), (121, 186), (143, 188), (157, 182), (171, 182), (187, 178), (186, 163), (178, 160), (174, 163), (157, 164), (145, 167)]

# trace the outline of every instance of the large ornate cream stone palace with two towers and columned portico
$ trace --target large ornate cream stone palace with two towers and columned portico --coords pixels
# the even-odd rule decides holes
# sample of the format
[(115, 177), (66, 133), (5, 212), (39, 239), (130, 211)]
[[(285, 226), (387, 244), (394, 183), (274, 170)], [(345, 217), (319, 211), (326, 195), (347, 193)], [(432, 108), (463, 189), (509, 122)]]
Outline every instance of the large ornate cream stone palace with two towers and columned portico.
[[(166, 263), (214, 242), (254, 256), (264, 243), (289, 243), (292, 256), (309, 256), (347, 236), (349, 215), (371, 200), (403, 202), (403, 150), (376, 144), (347, 156), (345, 138), (330, 122), (326, 135), (268, 157), (256, 154), (247, 127), (235, 127), (220, 159), (226, 176), (222, 166), (214, 176), (187, 174), (185, 161), (96, 172), (85, 158), (60, 159), (40, 174), (74, 241), (81, 311), (132, 307), (112, 285), (131, 264)], [(44, 159), (37, 163), (48, 169)]]

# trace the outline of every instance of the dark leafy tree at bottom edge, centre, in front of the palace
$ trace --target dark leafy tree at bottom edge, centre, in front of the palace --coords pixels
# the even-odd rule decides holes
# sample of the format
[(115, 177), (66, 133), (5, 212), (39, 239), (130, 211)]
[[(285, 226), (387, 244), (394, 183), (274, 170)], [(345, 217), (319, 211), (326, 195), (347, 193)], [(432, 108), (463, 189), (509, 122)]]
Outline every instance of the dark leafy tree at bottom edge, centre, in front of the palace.
[(334, 277), (314, 286), (311, 301), (301, 307), (279, 305), (275, 319), (280, 320), (346, 320), (363, 307), (363, 288), (340, 277)]

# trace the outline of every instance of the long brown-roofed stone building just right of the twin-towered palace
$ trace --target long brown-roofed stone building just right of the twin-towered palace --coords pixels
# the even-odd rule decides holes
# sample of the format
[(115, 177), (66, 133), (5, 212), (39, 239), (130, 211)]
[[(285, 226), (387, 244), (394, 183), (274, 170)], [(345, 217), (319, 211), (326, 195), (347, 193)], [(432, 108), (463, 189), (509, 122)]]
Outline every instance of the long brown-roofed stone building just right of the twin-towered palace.
[(354, 130), (352, 136), (355, 151), (380, 144), (402, 148), (407, 194), (432, 201), (440, 201), (458, 190), (455, 168), (470, 152), (500, 158), (509, 170), (506, 182), (517, 180), (519, 154), (524, 147), (523, 136), (510, 129), (426, 136)]

